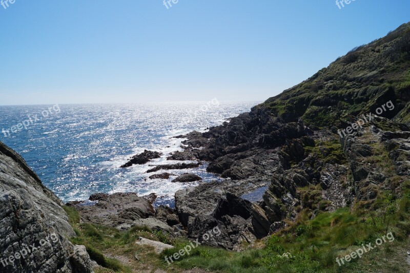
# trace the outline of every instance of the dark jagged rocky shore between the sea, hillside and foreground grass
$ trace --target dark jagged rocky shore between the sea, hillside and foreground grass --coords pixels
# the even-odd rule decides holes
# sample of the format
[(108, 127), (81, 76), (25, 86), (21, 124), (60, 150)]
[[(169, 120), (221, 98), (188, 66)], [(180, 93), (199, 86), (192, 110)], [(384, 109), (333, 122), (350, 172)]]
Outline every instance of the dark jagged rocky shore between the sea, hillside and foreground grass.
[[(243, 242), (253, 243), (285, 227), (301, 209), (316, 214), (348, 206), (355, 198), (375, 200), (378, 191), (387, 186), (387, 178), (364, 163), (363, 158), (374, 154), (370, 146), (361, 144), (364, 139), (385, 143), (391, 157), (397, 159), (397, 174), (408, 175), (410, 129), (405, 124), (376, 117), (357, 133), (340, 138), (331, 130), (314, 130), (302, 121), (284, 123), (268, 113), (268, 109), (257, 107), (206, 133), (178, 136), (186, 138), (181, 145), (185, 150), (173, 160), (208, 161), (207, 171), (226, 179), (178, 191), (175, 209), (159, 207), (155, 211), (135, 194), (115, 194), (95, 206), (78, 206), (83, 221), (121, 230), (144, 225), (199, 240), (218, 226), (221, 235), (203, 243), (240, 249)], [(380, 124), (399, 131), (385, 132)], [(197, 164), (158, 165), (149, 172)], [(349, 172), (352, 181), (348, 181)], [(169, 175), (154, 174), (152, 178)], [(173, 181), (188, 181), (186, 178), (200, 180), (187, 173)]]

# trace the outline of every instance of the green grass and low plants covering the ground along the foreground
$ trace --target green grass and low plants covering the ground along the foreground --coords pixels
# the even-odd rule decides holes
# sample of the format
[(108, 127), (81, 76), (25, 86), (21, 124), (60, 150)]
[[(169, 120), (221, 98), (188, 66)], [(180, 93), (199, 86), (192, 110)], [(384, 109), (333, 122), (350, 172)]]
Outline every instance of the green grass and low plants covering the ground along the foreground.
[[(384, 192), (376, 202), (367, 207), (358, 202), (352, 209), (341, 208), (335, 212), (321, 212), (312, 220), (312, 211), (304, 209), (294, 222), (279, 233), (259, 243), (262, 247), (252, 247), (242, 252), (233, 252), (208, 246), (198, 246), (189, 256), (168, 265), (165, 257), (182, 249), (187, 240), (170, 240), (175, 249), (156, 255), (153, 249), (135, 244), (139, 236), (160, 241), (155, 233), (146, 228), (134, 227), (128, 232), (92, 224), (76, 222), (78, 214), (72, 207), (65, 207), (70, 222), (76, 228), (78, 237), (74, 244), (84, 244), (90, 257), (99, 265), (118, 272), (132, 272), (147, 269), (150, 265), (169, 272), (182, 269), (203, 268), (214, 272), (407, 272), (409, 268), (400, 263), (398, 253), (408, 245), (410, 235), (410, 181), (402, 184), (403, 195), (395, 198), (389, 191)], [(385, 242), (377, 248), (340, 266), (337, 257), (344, 257), (372, 243), (388, 232), (395, 240)], [(166, 235), (161, 235), (160, 237)], [(258, 243), (257, 243), (258, 244)], [(105, 255), (103, 255), (103, 253)], [(139, 261), (134, 256), (138, 255)], [(128, 259), (128, 266), (116, 259)], [(397, 261), (396, 261), (397, 260)], [(388, 262), (387, 262), (388, 261)], [(396, 261), (396, 262), (395, 262)], [(100, 272), (110, 272), (104, 268)]]

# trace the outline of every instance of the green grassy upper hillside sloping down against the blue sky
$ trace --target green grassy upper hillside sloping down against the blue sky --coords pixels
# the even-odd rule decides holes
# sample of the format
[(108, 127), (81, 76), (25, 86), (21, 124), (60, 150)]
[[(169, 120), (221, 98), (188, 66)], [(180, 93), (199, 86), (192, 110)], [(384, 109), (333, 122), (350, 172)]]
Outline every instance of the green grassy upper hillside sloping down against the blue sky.
[(410, 122), (410, 23), (352, 50), (260, 106), (285, 121), (301, 117), (318, 127), (338, 127), (352, 116), (375, 113), (388, 100), (395, 109), (385, 117)]

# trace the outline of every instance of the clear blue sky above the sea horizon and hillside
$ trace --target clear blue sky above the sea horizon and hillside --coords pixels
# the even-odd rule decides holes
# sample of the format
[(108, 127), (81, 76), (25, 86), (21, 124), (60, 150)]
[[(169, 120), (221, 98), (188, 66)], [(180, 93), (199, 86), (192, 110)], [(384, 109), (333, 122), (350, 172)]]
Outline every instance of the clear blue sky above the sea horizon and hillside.
[(410, 21), (408, 0), (14, 1), (0, 105), (262, 101)]

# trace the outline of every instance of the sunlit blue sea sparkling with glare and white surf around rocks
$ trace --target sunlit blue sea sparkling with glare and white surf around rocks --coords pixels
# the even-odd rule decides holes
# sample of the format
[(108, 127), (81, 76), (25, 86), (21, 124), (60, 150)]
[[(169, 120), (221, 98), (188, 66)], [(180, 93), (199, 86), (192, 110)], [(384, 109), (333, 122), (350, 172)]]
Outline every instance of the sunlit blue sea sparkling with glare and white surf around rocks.
[[(86, 200), (93, 193), (156, 193), (156, 205), (173, 206), (174, 193), (194, 183), (151, 180), (146, 171), (179, 147), (173, 136), (220, 125), (258, 102), (169, 102), (145, 104), (55, 104), (0, 106), (0, 140), (24, 157), (61, 200)], [(19, 124), (21, 123), (21, 124)], [(15, 126), (15, 127), (13, 127)], [(144, 165), (119, 166), (145, 149), (163, 156)], [(186, 161), (189, 162), (189, 161)], [(204, 181), (219, 179), (193, 170)], [(161, 172), (161, 171), (160, 171)], [(160, 173), (158, 172), (158, 173)], [(167, 171), (182, 174), (187, 170)], [(191, 172), (191, 170), (190, 170)]]

